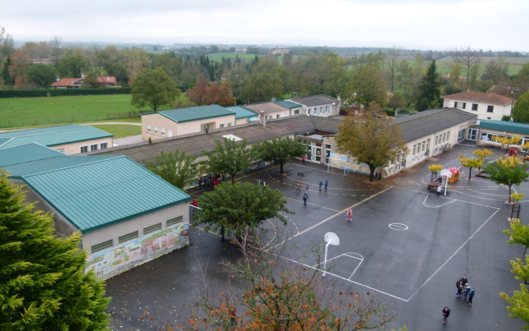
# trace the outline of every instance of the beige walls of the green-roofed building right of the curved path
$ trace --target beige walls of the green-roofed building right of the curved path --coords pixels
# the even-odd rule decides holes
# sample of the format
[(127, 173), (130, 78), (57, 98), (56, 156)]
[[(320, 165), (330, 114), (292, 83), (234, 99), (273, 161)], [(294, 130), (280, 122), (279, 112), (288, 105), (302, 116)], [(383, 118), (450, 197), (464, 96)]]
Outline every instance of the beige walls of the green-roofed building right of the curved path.
[[(202, 124), (212, 123), (210, 130), (218, 129), (221, 124), (224, 128), (235, 125), (235, 114), (211, 117), (196, 121), (177, 123), (160, 114), (148, 114), (141, 117), (141, 137), (143, 140), (156, 140), (167, 137), (187, 135), (188, 133), (200, 132)], [(150, 126), (150, 132), (148, 131)], [(157, 130), (155, 130), (157, 129)], [(158, 131), (158, 132), (155, 132)]]

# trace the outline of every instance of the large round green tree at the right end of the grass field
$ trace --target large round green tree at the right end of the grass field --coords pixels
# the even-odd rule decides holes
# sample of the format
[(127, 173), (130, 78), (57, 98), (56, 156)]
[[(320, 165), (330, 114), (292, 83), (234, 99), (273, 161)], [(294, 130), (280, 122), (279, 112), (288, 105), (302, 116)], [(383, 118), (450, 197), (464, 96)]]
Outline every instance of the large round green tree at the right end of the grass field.
[(157, 111), (162, 106), (170, 106), (180, 95), (171, 77), (158, 67), (141, 71), (132, 84), (131, 104), (138, 108), (149, 106)]

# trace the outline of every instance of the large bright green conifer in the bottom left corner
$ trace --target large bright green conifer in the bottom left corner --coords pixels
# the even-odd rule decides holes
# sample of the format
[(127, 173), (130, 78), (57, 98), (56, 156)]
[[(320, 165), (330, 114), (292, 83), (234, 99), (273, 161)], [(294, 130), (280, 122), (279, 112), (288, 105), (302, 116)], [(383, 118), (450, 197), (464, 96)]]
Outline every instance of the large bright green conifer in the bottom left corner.
[(79, 233), (57, 237), (51, 214), (24, 198), (0, 171), (0, 329), (104, 329), (110, 298), (103, 281), (84, 273)]

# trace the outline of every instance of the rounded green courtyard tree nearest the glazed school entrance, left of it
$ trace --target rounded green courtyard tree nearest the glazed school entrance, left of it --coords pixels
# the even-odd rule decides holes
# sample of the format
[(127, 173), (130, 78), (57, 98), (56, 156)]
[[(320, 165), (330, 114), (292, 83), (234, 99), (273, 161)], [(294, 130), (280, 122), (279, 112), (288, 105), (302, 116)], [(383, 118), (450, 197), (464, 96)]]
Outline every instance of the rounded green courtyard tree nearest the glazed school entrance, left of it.
[(279, 163), (279, 173), (282, 174), (283, 166), (295, 157), (307, 154), (307, 147), (299, 139), (289, 137), (272, 138), (254, 144), (253, 150), (256, 157), (269, 162)]

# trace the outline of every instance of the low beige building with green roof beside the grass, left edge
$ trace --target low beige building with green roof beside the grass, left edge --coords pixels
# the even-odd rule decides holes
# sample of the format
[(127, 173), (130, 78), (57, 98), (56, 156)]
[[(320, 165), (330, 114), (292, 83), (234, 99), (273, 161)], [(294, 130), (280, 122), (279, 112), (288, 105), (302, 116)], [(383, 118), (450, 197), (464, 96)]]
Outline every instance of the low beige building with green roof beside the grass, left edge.
[(111, 148), (113, 137), (111, 133), (94, 127), (70, 124), (0, 133), (0, 150), (37, 142), (72, 155)]

